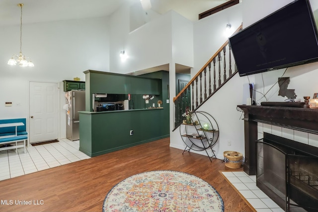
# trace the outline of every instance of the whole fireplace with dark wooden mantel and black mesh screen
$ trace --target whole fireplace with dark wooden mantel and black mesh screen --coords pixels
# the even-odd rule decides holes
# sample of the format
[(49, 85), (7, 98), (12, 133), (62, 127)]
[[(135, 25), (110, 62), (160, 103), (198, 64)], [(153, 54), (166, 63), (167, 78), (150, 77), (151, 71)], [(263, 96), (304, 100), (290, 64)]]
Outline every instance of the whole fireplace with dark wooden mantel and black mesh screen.
[[(244, 112), (244, 172), (256, 175), (256, 185), (286, 212), (318, 212), (318, 110), (238, 107)], [(268, 133), (258, 140), (258, 123), (307, 134), (308, 142)]]

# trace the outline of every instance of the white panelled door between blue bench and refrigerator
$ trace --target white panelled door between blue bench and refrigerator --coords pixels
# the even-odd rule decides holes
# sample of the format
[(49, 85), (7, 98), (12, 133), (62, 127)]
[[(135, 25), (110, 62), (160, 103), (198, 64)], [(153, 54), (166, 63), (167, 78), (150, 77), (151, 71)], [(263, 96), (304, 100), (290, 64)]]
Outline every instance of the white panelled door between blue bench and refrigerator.
[(58, 83), (30, 82), (30, 143), (58, 139)]

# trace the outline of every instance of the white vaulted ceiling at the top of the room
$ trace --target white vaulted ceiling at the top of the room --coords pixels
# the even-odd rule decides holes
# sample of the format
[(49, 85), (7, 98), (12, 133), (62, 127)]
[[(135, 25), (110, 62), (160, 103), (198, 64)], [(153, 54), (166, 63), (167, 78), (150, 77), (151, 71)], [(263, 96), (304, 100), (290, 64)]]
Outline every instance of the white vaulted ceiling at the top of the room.
[[(227, 0), (150, 0), (152, 10), (164, 14), (174, 10), (191, 21), (198, 14)], [(121, 5), (141, 3), (140, 0), (0, 0), (0, 26), (20, 23), (20, 8), (24, 3), (23, 23), (108, 16)]]

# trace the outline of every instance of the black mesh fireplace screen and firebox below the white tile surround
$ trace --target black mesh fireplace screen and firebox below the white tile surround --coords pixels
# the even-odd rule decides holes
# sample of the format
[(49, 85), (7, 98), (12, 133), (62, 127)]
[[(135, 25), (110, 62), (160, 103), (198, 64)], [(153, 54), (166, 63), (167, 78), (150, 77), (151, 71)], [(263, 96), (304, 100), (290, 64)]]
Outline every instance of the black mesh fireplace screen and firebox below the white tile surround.
[(318, 212), (318, 148), (264, 133), (256, 185), (286, 212)]

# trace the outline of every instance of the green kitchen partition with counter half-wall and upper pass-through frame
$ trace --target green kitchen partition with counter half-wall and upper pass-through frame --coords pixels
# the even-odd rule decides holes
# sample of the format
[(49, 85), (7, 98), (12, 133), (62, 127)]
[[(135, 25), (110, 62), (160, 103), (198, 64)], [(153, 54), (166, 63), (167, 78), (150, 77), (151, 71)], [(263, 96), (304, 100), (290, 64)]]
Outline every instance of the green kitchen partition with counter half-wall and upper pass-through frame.
[[(168, 99), (164, 72), (155, 78), (103, 71), (85, 73), (85, 111), (79, 112), (79, 150), (90, 157), (169, 137), (169, 107), (150, 107)], [(133, 109), (95, 112), (96, 93), (119, 94), (134, 103)], [(145, 104), (144, 94), (155, 95)], [(107, 102), (106, 102), (107, 103)], [(144, 109), (141, 109), (144, 108)], [(148, 108), (148, 109), (146, 109)], [(132, 131), (132, 135), (131, 135)]]

